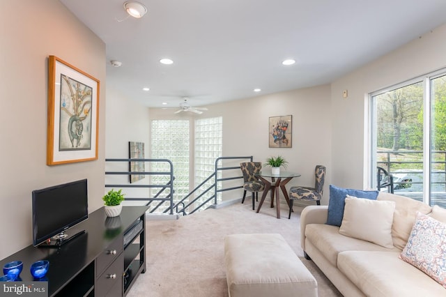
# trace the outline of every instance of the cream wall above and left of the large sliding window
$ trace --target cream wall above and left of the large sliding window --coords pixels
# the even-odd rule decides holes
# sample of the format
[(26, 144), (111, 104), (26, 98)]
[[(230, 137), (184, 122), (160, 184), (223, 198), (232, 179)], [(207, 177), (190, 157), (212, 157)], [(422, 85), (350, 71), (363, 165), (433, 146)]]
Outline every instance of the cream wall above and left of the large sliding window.
[[(373, 40), (371, 40), (373, 42)], [(446, 66), (446, 25), (332, 83), (332, 183), (367, 188), (367, 94)], [(348, 90), (348, 98), (342, 91)], [(365, 128), (365, 132), (364, 132)]]

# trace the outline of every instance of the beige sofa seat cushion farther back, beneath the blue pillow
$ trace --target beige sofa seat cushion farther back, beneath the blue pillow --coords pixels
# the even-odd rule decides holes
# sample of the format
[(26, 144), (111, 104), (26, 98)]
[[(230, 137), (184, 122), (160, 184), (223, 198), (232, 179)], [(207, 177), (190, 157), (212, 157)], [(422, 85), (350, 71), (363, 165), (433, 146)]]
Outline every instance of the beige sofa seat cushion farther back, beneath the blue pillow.
[[(380, 245), (362, 241), (357, 238), (339, 234), (339, 227), (329, 224), (307, 224), (305, 227), (306, 240), (310, 241), (321, 253), (330, 261), (330, 264), (337, 266), (339, 252), (348, 250), (380, 250), (389, 251)], [(390, 251), (401, 252), (393, 248)]]

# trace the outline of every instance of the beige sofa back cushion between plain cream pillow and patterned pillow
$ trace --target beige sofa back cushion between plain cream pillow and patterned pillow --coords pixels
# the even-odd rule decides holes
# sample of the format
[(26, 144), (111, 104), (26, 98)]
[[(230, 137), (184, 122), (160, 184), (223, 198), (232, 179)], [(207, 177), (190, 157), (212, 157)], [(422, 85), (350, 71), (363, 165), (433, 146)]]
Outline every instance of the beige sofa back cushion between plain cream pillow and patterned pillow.
[(395, 201), (395, 211), (393, 214), (392, 239), (393, 245), (400, 250), (406, 246), (407, 240), (415, 222), (417, 211), (430, 213), (431, 206), (408, 197), (380, 192), (378, 200)]

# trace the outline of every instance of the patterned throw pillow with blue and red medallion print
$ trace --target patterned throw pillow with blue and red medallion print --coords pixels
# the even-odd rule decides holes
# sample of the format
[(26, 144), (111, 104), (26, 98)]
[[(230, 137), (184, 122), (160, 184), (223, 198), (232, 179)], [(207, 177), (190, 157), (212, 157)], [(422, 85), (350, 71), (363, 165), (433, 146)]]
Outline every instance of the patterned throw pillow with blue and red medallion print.
[(446, 288), (446, 224), (417, 211), (400, 258)]

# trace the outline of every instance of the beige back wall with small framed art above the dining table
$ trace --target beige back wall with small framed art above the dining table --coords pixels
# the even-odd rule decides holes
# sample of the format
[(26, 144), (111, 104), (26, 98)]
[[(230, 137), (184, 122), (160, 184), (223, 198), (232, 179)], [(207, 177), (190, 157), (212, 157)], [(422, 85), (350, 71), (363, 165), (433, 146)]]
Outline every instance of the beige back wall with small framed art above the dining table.
[[(270, 156), (282, 155), (289, 161), (287, 170), (302, 174), (289, 185), (314, 185), (314, 167), (328, 169), (326, 192), (331, 178), (331, 105), (330, 86), (316, 86), (272, 95), (208, 105), (200, 117), (223, 117), (223, 156), (253, 155), (265, 162)], [(292, 148), (268, 147), (270, 116), (293, 116)], [(173, 114), (171, 109), (151, 109), (151, 119), (194, 119), (186, 113)], [(191, 146), (193, 147), (193, 146)], [(241, 175), (241, 174), (240, 174)], [(234, 197), (235, 196), (235, 197)], [(240, 192), (226, 192), (224, 199), (241, 197)], [(324, 195), (323, 204), (328, 201)]]

